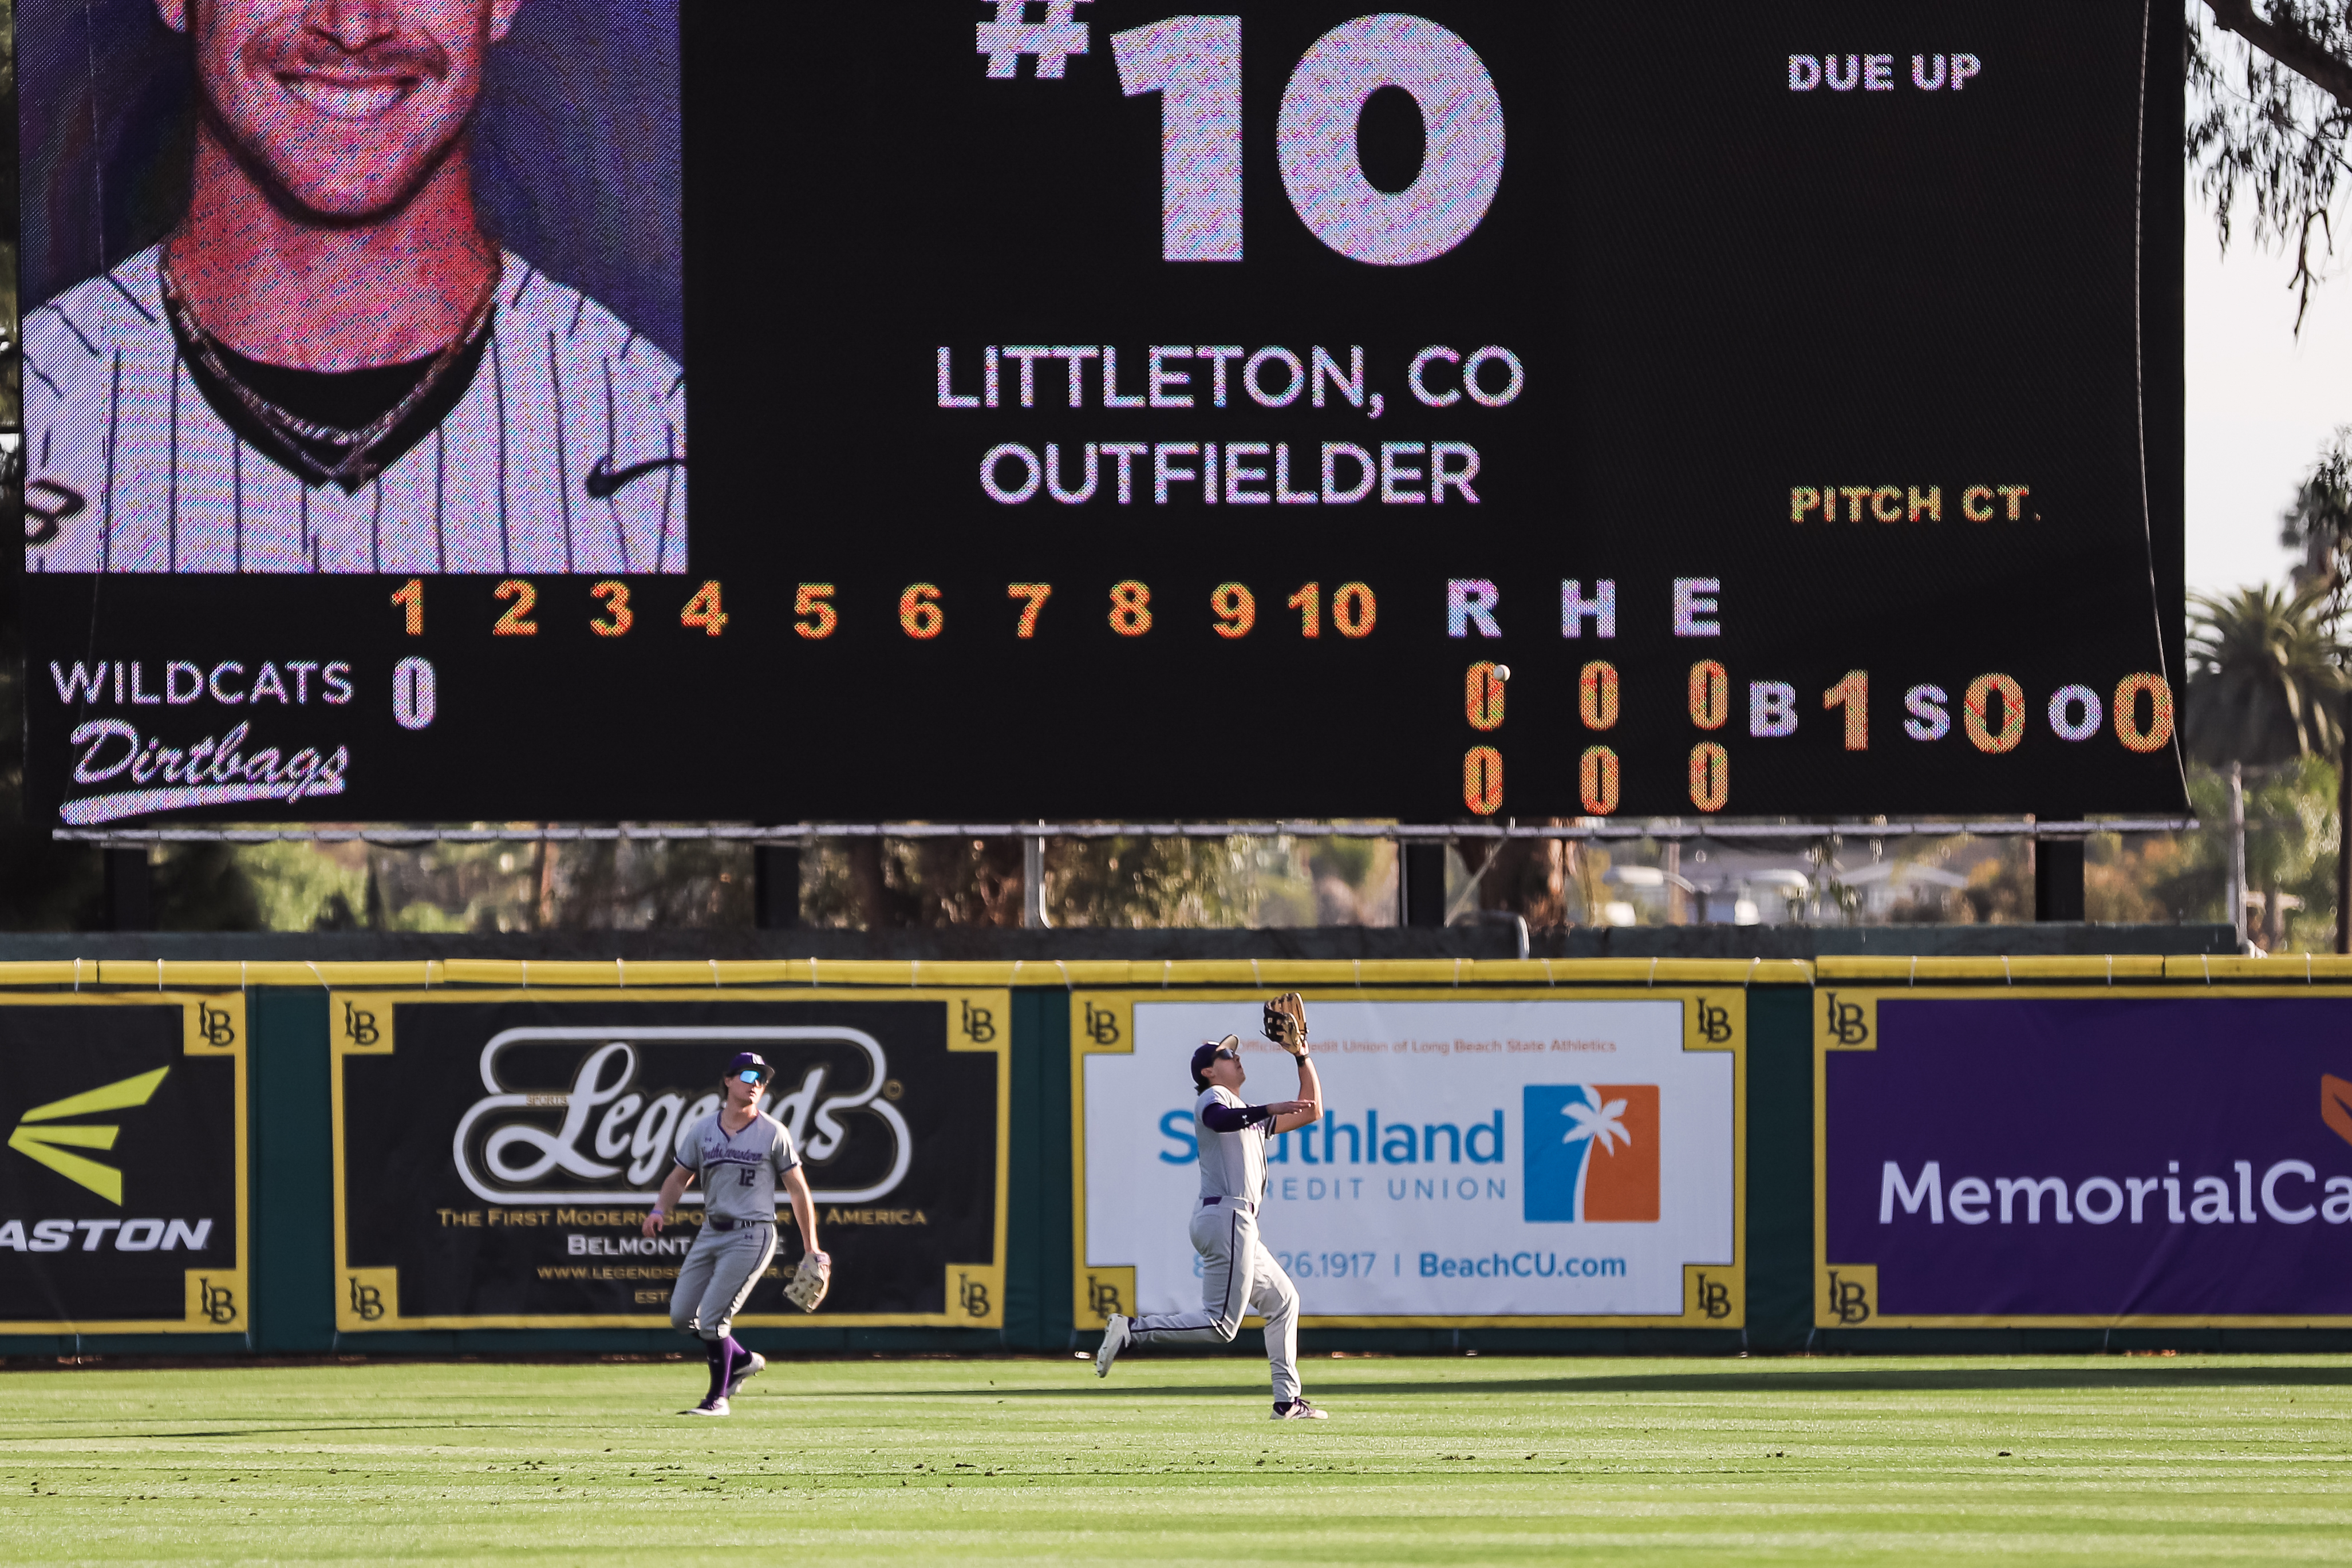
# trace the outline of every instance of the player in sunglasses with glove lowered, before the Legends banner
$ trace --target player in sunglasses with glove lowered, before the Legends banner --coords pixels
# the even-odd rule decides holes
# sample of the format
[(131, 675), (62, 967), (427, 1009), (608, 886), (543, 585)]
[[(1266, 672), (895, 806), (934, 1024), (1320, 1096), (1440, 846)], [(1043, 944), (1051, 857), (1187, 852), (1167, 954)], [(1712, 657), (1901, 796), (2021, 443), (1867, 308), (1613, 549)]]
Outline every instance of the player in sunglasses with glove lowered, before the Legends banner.
[(767, 1356), (743, 1349), (731, 1328), (743, 1298), (776, 1255), (776, 1180), (793, 1199), (800, 1222), (800, 1269), (783, 1288), (802, 1312), (816, 1312), (833, 1284), (833, 1260), (816, 1251), (816, 1199), (793, 1150), (793, 1133), (760, 1110), (762, 1088), (776, 1070), (755, 1051), (727, 1063), (727, 1103), (677, 1133), (677, 1166), (661, 1182), (661, 1197), (644, 1215), (644, 1234), (659, 1237), (677, 1213), (687, 1182), (703, 1182), (703, 1234), (694, 1239), (677, 1286), (670, 1291), (670, 1326), (701, 1335), (710, 1356), (710, 1392), (680, 1415), (727, 1415), (727, 1401), (767, 1371)]

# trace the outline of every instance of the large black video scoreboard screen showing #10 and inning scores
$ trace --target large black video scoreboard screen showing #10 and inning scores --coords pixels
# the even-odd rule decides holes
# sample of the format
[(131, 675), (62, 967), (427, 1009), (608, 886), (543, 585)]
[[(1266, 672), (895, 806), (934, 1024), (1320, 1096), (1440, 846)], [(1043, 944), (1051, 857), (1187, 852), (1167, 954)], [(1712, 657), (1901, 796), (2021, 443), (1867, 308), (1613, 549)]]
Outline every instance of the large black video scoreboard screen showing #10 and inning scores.
[(21, 0), (28, 799), (2178, 809), (2178, 26)]

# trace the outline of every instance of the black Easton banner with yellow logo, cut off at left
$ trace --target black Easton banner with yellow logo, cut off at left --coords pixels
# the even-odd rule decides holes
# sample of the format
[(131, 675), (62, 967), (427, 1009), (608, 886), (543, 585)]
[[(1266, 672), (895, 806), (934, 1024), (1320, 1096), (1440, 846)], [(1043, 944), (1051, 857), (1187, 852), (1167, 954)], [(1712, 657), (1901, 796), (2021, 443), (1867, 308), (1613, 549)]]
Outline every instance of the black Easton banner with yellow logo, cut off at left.
[(242, 997), (0, 997), (0, 1335), (252, 1331)]

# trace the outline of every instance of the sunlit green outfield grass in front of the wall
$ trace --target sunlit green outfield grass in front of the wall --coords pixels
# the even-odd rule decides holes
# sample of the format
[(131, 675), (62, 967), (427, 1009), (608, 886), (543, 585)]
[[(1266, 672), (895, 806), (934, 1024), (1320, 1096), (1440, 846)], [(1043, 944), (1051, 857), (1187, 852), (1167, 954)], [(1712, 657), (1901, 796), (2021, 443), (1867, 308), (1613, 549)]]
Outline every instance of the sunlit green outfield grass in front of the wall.
[(2352, 1561), (2352, 1359), (0, 1375), (0, 1559)]

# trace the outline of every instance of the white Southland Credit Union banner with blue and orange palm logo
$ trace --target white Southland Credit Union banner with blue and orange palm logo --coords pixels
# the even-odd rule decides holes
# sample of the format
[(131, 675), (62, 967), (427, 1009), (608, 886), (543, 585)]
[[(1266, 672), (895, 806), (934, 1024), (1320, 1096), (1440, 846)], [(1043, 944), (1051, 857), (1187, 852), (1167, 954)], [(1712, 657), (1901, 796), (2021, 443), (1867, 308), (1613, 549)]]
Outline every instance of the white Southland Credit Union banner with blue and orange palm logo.
[[(1192, 1048), (1242, 1034), (1296, 1098), (1263, 992), (1077, 992), (1080, 1328), (1200, 1307)], [(1261, 1239), (1310, 1326), (1740, 1328), (1740, 990), (1308, 992), (1324, 1119), (1268, 1145)]]

